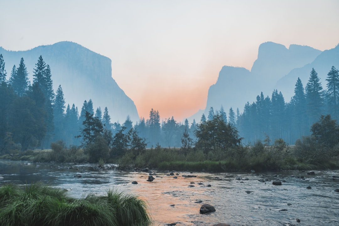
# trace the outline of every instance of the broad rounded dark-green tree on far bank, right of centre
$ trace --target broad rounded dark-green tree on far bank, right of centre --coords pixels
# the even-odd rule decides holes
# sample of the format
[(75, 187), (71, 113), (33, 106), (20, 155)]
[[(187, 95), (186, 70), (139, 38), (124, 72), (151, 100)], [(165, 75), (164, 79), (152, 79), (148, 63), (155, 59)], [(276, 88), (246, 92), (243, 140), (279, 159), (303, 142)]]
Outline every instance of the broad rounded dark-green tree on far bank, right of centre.
[(240, 145), (241, 139), (238, 131), (230, 123), (225, 123), (220, 115), (215, 115), (212, 120), (202, 122), (195, 130), (198, 141), (196, 147), (205, 153), (211, 150), (222, 150)]

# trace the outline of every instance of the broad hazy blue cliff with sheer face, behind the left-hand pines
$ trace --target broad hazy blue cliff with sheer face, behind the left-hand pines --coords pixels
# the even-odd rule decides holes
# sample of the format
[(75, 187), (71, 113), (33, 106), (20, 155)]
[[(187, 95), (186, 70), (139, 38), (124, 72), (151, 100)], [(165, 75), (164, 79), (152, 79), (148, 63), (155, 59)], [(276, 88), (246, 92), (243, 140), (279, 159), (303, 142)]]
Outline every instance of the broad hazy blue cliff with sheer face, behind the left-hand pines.
[(29, 80), (33, 81), (33, 69), (42, 55), (52, 72), (53, 88), (61, 85), (66, 103), (78, 107), (79, 113), (84, 100), (92, 99), (94, 111), (107, 107), (111, 122), (124, 122), (127, 115), (133, 122), (139, 120), (137, 108), (112, 78), (112, 61), (77, 43), (58, 42), (53, 45), (38, 46), (26, 51), (8, 51), (0, 47), (3, 55), (7, 79), (13, 65), (19, 66), (24, 59)]

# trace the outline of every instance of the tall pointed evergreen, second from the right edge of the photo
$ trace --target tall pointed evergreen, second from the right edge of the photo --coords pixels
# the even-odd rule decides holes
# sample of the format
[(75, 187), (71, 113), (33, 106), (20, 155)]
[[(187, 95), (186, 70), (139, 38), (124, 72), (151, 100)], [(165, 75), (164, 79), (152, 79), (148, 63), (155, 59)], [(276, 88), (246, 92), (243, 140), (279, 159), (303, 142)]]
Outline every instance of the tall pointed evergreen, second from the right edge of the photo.
[(306, 84), (306, 111), (308, 114), (308, 126), (318, 120), (323, 108), (322, 86), (318, 73), (312, 68), (310, 79)]

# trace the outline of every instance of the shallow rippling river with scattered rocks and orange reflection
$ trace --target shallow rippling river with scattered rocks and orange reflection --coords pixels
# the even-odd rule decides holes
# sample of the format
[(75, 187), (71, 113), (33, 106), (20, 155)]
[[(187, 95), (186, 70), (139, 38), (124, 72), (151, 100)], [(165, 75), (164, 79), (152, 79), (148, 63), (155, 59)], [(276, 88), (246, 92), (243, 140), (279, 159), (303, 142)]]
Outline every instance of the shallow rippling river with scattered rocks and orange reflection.
[[(145, 200), (154, 225), (339, 225), (339, 171), (265, 173), (148, 173), (97, 170), (89, 164), (36, 164), (0, 161), (0, 185), (8, 182), (30, 184), (43, 181), (67, 189), (69, 196), (81, 198), (89, 193), (105, 195), (117, 189)], [(72, 168), (72, 167), (73, 168)], [(71, 167), (71, 168), (70, 168)], [(75, 177), (80, 174), (81, 177)], [(197, 177), (182, 177), (195, 175)], [(303, 178), (302, 178), (303, 177)], [(263, 179), (265, 182), (258, 180)], [(279, 179), (282, 185), (273, 185)], [(132, 184), (137, 181), (138, 184)], [(200, 183), (200, 184), (198, 184)], [(189, 187), (194, 185), (194, 187)], [(210, 187), (207, 185), (211, 185)], [(306, 187), (311, 186), (311, 189)], [(216, 211), (200, 214), (202, 204)], [(297, 222), (296, 219), (300, 219)]]

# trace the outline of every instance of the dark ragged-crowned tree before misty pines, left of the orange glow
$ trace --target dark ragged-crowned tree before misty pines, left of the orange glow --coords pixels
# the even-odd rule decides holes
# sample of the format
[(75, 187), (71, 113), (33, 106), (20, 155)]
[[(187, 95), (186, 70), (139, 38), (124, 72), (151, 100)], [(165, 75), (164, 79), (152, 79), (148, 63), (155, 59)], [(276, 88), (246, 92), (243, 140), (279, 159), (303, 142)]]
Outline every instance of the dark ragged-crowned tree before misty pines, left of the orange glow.
[(93, 117), (93, 114), (85, 112), (85, 120), (82, 122), (81, 131), (82, 146), (88, 147), (93, 144), (98, 136), (103, 133), (103, 126), (99, 118)]

